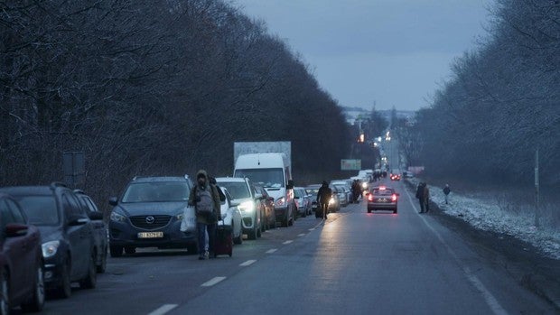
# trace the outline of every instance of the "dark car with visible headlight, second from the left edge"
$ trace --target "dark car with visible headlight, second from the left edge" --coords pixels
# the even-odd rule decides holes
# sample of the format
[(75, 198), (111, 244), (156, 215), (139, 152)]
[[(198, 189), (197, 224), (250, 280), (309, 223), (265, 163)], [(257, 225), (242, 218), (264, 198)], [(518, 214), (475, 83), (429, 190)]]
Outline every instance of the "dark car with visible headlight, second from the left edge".
[(76, 194), (61, 183), (0, 191), (12, 195), (29, 223), (41, 232), (46, 289), (68, 298), (71, 283), (78, 282), (85, 289), (95, 288), (98, 255), (94, 227)]

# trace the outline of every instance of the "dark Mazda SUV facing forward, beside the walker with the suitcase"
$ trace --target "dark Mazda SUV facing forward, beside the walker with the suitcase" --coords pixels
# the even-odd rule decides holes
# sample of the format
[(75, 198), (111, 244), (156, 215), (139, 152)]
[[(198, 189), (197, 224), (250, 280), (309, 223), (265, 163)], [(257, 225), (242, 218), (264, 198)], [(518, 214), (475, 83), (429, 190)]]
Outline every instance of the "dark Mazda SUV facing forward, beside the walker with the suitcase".
[[(136, 247), (187, 248), (197, 252), (194, 211), (181, 231), (183, 210), (188, 208), (192, 182), (184, 177), (135, 177), (126, 186), (109, 221), (109, 249), (112, 257), (134, 254)], [(189, 208), (191, 209), (191, 208)]]

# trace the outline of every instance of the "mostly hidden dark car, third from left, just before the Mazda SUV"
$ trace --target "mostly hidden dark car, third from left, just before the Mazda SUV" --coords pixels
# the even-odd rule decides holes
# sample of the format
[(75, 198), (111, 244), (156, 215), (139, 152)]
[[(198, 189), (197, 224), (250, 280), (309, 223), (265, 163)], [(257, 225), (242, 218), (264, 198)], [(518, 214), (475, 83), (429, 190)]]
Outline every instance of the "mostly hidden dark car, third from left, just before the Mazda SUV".
[(108, 251), (108, 238), (107, 238), (107, 224), (103, 221), (103, 212), (98, 210), (95, 202), (82, 190), (74, 190), (78, 196), (79, 202), (86, 209), (91, 223), (93, 224), (93, 236), (95, 239), (97, 257), (95, 260), (98, 273), (105, 273), (107, 269), (107, 251)]

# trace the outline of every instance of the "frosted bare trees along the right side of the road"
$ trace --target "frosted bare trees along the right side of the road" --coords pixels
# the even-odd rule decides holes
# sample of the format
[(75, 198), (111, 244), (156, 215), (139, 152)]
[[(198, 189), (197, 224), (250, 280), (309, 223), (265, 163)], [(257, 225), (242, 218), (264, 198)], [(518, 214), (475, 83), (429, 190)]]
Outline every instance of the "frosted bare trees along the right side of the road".
[[(434, 176), (560, 185), (560, 2), (497, 0), (489, 34), (400, 128), (410, 164)], [(530, 198), (530, 197), (529, 197)]]

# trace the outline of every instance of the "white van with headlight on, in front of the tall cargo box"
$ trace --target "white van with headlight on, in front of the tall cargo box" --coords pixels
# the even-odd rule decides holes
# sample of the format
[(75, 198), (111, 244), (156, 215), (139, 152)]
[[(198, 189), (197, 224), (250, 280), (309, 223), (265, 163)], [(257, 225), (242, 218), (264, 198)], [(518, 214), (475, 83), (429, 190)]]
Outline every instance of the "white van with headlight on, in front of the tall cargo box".
[(234, 177), (247, 177), (263, 186), (275, 199), (275, 217), (282, 225), (294, 224), (294, 184), (292, 168), (285, 153), (252, 153), (239, 155), (235, 162)]

